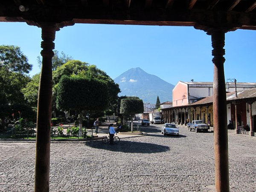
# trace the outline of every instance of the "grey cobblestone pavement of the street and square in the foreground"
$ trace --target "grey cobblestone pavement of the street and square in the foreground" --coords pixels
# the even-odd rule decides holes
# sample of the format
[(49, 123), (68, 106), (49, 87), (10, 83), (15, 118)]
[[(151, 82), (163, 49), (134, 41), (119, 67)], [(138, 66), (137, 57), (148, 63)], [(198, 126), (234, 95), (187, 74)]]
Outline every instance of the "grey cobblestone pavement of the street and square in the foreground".
[[(156, 126), (115, 145), (52, 143), (50, 192), (214, 192), (213, 132), (179, 126), (180, 137), (163, 136)], [(229, 132), (230, 191), (254, 192), (256, 139)], [(0, 191), (33, 191), (35, 143), (0, 148)]]

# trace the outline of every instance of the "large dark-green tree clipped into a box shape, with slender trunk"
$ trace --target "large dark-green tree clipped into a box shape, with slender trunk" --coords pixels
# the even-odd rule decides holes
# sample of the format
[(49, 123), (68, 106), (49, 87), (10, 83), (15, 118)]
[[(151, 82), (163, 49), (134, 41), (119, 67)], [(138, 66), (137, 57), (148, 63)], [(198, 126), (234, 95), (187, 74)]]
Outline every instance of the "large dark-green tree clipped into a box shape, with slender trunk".
[(57, 107), (77, 110), (80, 113), (79, 131), (82, 131), (82, 114), (104, 111), (108, 107), (108, 85), (90, 77), (62, 76), (57, 90)]

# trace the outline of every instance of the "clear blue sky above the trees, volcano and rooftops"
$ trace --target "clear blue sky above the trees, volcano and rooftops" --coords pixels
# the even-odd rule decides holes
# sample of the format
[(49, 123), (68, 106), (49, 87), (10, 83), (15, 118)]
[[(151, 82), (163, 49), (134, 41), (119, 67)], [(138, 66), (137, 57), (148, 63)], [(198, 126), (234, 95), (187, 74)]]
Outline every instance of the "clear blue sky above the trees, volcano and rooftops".
[[(41, 29), (26, 23), (0, 23), (0, 44), (15, 45), (39, 73)], [(256, 31), (226, 34), (225, 79), (256, 82)], [(211, 36), (193, 27), (75, 24), (56, 32), (55, 49), (95, 64), (112, 79), (140, 67), (171, 84), (213, 81)]]

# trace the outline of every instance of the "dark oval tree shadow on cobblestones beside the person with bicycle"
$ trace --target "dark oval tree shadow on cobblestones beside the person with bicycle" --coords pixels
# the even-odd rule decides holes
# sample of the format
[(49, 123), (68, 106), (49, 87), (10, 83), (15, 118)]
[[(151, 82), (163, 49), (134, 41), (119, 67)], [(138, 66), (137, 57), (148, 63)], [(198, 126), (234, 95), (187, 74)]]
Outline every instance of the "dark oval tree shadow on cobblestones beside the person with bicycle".
[(160, 153), (170, 150), (168, 146), (164, 145), (122, 140), (120, 140), (119, 143), (115, 143), (114, 145), (110, 145), (109, 143), (104, 144), (102, 143), (102, 141), (87, 142), (84, 144), (91, 148), (104, 149), (108, 151), (118, 151), (124, 153)]

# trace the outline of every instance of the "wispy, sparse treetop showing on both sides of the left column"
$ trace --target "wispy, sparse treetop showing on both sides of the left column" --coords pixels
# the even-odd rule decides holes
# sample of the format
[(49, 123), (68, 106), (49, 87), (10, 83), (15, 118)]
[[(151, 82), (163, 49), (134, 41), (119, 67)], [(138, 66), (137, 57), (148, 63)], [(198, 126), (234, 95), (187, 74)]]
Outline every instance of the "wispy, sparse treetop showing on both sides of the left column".
[[(68, 61), (73, 60), (71, 56), (66, 55), (63, 51), (61, 51), (61, 55), (57, 50), (54, 50), (54, 56), (52, 57), (52, 71), (55, 71), (57, 67), (61, 67), (61, 65), (67, 63)], [(38, 56), (38, 67), (42, 65), (42, 57)]]

